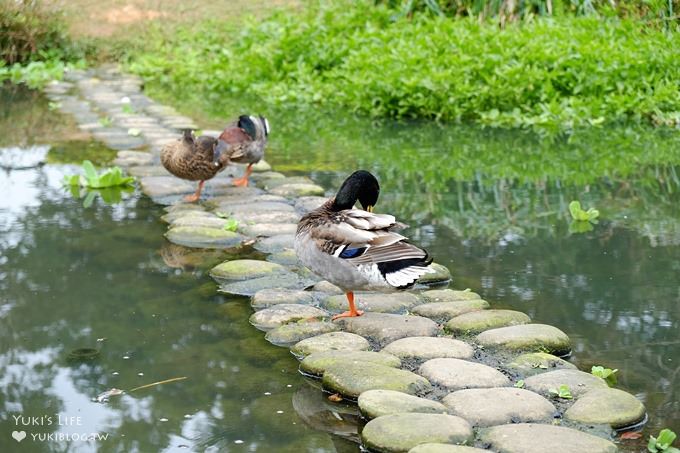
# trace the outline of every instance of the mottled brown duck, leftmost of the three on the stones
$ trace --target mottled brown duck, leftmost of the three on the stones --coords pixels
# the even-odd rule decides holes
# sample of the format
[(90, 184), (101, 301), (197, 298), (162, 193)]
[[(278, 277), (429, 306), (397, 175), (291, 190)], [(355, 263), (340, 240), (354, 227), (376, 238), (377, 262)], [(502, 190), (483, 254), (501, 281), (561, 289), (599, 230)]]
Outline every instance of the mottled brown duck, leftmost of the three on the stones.
[(203, 184), (221, 172), (229, 164), (230, 146), (223, 140), (201, 135), (196, 138), (191, 130), (185, 130), (181, 138), (168, 143), (161, 151), (161, 163), (178, 178), (198, 181), (196, 193), (185, 201), (197, 201)]

